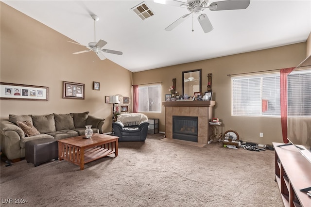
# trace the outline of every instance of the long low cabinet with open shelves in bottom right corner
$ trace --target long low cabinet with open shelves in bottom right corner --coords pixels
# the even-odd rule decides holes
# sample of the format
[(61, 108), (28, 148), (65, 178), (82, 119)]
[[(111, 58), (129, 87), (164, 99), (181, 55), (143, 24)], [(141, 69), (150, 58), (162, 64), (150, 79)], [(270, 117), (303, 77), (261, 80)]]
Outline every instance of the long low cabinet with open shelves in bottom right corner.
[[(300, 191), (311, 187), (311, 163), (294, 145), (273, 143), (276, 182), (285, 207), (311, 207), (311, 197)], [(283, 145), (279, 147), (280, 145)]]

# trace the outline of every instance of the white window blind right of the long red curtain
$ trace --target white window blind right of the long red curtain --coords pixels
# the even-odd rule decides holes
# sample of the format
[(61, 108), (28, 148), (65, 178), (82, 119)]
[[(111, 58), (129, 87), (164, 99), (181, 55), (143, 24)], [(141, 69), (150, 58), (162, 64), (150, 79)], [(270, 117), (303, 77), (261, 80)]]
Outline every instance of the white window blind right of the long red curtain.
[(288, 116), (311, 116), (311, 69), (288, 75), (287, 103)]

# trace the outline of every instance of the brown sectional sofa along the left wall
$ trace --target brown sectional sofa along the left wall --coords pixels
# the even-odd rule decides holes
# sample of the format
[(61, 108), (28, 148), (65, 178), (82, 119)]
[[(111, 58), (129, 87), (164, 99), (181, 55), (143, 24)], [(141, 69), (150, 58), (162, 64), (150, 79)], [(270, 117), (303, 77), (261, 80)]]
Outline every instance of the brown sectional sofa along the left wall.
[[(104, 119), (84, 113), (48, 114), (48, 115), (14, 115), (1, 120), (1, 152), (8, 159), (25, 157), (25, 143), (30, 140), (54, 138), (56, 140), (84, 135), (86, 125), (92, 125), (93, 133), (103, 133)], [(37, 135), (27, 136), (20, 122), (30, 121)], [(29, 122), (28, 122), (29, 123)], [(24, 129), (25, 130), (25, 129)]]

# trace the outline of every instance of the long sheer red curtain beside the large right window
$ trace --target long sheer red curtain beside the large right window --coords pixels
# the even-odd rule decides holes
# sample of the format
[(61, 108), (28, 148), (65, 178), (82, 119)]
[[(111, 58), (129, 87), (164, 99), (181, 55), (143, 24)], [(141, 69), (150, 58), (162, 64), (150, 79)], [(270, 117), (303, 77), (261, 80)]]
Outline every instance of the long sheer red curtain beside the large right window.
[(281, 98), (281, 126), (283, 142), (287, 140), (287, 76), (294, 70), (294, 67), (281, 69), (280, 74), (280, 98)]

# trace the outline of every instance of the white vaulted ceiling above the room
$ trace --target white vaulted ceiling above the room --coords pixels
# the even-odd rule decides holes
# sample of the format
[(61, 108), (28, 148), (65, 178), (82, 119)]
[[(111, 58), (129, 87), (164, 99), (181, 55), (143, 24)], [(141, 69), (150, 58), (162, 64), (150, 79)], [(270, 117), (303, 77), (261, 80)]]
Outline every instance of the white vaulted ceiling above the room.
[(145, 3), (155, 15), (145, 20), (131, 10), (142, 0), (2, 1), (83, 45), (94, 41), (90, 14), (97, 15), (96, 41), (103, 39), (108, 42), (104, 48), (123, 52), (105, 56), (132, 72), (304, 42), (311, 32), (311, 0), (251, 0), (245, 10), (206, 9), (214, 27), (209, 33), (203, 32), (197, 15), (194, 32), (192, 16), (165, 31), (189, 11), (152, 0)]

